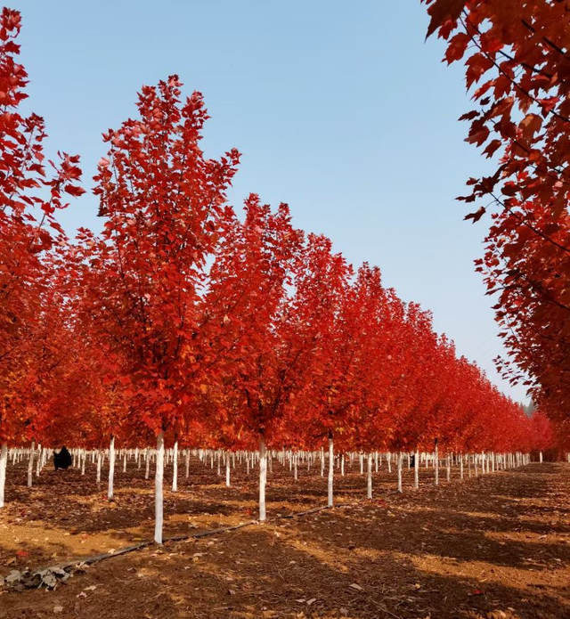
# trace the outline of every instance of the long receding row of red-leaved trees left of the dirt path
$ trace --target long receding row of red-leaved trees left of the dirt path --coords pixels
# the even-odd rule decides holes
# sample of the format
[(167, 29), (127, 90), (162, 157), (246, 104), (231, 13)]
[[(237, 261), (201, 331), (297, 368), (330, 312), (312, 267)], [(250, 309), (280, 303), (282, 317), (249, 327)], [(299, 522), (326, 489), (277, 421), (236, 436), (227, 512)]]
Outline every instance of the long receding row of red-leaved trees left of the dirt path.
[[(143, 446), (156, 439), (157, 533), (170, 444), (529, 452), (550, 442), (431, 316), (305, 234), (286, 205), (227, 205), (240, 159), (208, 159), (208, 118), (176, 76), (103, 135), (100, 234), (57, 222), (77, 156), (45, 165), (43, 120), (22, 116), (20, 14), (0, 28), (0, 486), (7, 444)], [(537, 429), (539, 428), (539, 429)], [(542, 428), (542, 429), (541, 429)], [(546, 437), (546, 438), (545, 438)], [(332, 460), (332, 458), (330, 458)], [(0, 487), (0, 493), (4, 488)], [(262, 508), (261, 517), (265, 517)]]

